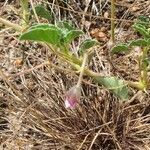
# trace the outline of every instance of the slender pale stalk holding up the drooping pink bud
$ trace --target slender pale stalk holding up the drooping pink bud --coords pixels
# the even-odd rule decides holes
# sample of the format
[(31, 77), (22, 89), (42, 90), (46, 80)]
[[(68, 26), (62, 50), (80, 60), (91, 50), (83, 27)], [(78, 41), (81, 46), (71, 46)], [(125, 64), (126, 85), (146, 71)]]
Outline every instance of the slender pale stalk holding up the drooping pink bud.
[(83, 78), (84, 69), (85, 69), (87, 59), (88, 59), (88, 53), (85, 53), (84, 56), (83, 56), (83, 62), (82, 62), (81, 70), (80, 70), (80, 75), (79, 75), (77, 87), (81, 86), (81, 82), (82, 82), (82, 78)]

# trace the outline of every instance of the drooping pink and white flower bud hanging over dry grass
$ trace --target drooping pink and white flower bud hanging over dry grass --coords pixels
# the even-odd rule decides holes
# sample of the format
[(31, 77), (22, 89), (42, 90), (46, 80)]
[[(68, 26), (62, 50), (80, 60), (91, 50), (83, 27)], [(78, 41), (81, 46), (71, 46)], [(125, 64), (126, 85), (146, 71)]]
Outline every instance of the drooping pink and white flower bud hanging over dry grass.
[(65, 94), (65, 106), (66, 108), (75, 108), (81, 97), (81, 89), (78, 86), (73, 86)]

